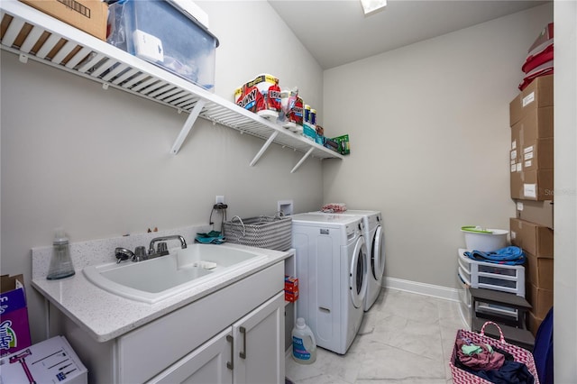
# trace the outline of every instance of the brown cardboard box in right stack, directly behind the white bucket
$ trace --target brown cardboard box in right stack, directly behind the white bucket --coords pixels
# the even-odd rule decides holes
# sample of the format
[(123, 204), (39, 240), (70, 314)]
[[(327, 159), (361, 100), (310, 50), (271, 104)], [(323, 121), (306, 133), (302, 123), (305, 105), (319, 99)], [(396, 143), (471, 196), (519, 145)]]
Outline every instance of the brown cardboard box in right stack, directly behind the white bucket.
[(553, 259), (553, 230), (546, 226), (511, 217), (511, 243), (537, 258)]

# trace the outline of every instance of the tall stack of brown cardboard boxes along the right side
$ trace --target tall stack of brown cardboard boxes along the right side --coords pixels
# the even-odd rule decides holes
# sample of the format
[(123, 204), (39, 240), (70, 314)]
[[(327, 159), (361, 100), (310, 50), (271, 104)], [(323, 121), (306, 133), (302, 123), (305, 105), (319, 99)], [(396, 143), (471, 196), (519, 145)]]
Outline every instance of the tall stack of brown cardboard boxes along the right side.
[(536, 78), (509, 105), (511, 243), (527, 255), (526, 295), (533, 334), (553, 306), (553, 75)]

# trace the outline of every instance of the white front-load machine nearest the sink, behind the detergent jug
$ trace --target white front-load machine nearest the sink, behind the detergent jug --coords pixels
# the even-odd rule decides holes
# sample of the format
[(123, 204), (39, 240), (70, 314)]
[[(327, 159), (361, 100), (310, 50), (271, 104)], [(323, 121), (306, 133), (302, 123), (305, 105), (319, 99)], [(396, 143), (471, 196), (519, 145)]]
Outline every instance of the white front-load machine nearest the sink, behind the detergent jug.
[(318, 346), (344, 354), (364, 315), (368, 256), (362, 217), (291, 217), (297, 251), (297, 315), (305, 319)]

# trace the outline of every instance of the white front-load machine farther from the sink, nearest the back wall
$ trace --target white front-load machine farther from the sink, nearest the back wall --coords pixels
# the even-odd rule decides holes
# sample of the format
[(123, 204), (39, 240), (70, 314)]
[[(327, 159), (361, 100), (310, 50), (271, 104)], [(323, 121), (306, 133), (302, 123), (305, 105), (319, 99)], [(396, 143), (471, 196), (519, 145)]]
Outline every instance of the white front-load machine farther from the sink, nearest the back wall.
[(347, 209), (342, 214), (328, 214), (321, 211), (311, 212), (322, 215), (362, 216), (364, 237), (369, 252), (367, 265), (367, 294), (364, 299), (364, 310), (368, 311), (379, 297), (382, 279), (385, 272), (385, 234), (382, 227), (380, 211)]

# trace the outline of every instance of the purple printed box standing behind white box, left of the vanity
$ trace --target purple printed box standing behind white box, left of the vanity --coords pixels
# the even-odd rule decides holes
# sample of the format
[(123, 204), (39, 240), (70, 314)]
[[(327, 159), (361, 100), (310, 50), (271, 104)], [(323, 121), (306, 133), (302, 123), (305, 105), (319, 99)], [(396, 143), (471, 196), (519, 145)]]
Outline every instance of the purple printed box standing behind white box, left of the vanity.
[(31, 345), (23, 276), (0, 277), (0, 356)]

